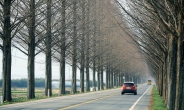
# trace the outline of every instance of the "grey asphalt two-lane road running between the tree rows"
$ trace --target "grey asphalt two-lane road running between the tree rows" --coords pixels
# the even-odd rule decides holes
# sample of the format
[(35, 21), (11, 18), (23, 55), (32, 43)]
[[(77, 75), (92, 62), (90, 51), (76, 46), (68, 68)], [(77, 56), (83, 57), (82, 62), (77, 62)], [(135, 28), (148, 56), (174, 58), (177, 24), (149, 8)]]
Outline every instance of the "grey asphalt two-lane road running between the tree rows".
[(121, 88), (0, 106), (0, 110), (148, 110), (152, 86), (138, 86), (137, 95)]

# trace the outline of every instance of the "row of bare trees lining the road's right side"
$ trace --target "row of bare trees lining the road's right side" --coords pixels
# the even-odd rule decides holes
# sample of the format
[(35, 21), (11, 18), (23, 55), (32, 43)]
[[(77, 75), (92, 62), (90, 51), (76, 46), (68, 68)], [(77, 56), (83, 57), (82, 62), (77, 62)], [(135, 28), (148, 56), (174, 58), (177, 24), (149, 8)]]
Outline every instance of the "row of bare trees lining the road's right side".
[(183, 0), (115, 2), (133, 27), (127, 32), (139, 45), (168, 109), (184, 109)]

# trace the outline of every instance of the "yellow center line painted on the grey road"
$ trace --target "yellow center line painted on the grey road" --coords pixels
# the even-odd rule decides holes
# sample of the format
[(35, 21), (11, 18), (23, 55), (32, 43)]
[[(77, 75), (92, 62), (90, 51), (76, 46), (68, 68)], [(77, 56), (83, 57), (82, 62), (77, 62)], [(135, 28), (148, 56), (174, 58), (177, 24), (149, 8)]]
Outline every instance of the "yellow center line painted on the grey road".
[(59, 110), (67, 110), (69, 108), (73, 108), (73, 107), (80, 106), (80, 105), (83, 105), (83, 104), (91, 103), (91, 102), (94, 102), (94, 101), (97, 101), (97, 100), (101, 100), (101, 99), (105, 99), (105, 98), (108, 98), (108, 97), (112, 97), (112, 96), (115, 96), (115, 95), (117, 95), (117, 94), (112, 94), (112, 95), (109, 95), (109, 96), (105, 96), (105, 97), (100, 97), (100, 98), (97, 98), (97, 99), (89, 100), (87, 102), (82, 102), (82, 103), (79, 103), (79, 104), (74, 104), (72, 106), (61, 108)]

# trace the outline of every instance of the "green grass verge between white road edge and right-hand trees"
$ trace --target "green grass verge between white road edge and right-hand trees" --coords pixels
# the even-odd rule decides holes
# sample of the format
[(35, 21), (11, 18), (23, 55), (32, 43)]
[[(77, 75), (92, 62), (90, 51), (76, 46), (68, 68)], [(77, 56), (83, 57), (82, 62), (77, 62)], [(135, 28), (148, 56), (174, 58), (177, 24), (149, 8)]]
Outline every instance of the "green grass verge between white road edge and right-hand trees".
[(152, 94), (150, 98), (149, 110), (168, 110), (162, 97), (160, 97), (156, 86), (153, 86)]

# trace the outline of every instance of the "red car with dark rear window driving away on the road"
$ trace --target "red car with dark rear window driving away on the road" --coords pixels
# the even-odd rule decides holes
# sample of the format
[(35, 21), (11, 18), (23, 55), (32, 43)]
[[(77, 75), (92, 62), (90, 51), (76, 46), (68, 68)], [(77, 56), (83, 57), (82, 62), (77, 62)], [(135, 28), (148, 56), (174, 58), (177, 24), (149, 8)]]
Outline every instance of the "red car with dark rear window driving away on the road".
[(124, 93), (134, 93), (134, 95), (137, 95), (137, 85), (134, 82), (124, 82), (121, 94), (123, 95)]

